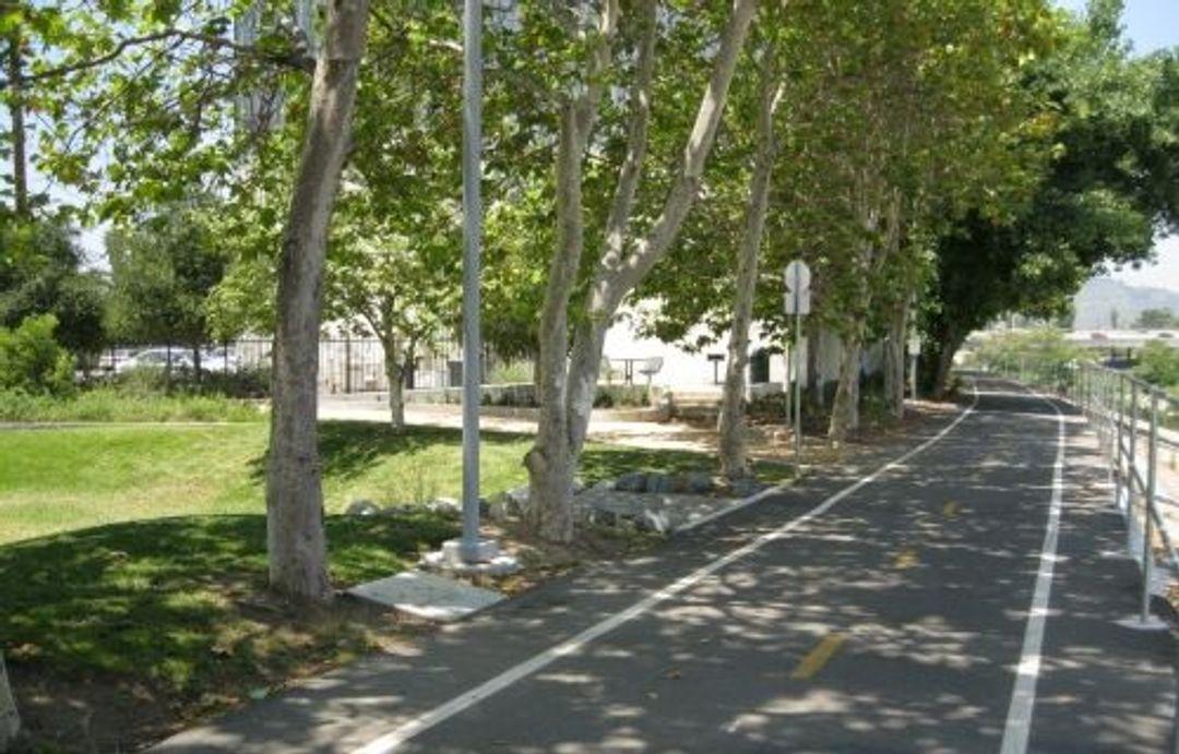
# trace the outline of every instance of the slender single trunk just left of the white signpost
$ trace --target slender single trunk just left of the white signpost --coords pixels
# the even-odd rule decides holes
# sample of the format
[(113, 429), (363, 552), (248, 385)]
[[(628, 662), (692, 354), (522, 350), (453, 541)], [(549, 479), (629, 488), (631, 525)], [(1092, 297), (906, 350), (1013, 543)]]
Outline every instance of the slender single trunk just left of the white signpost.
[[(766, 53), (769, 57), (772, 53)], [(729, 362), (725, 386), (717, 419), (720, 472), (731, 479), (749, 474), (745, 456), (745, 371), (749, 366), (749, 328), (753, 319), (753, 293), (757, 289), (757, 262), (765, 231), (765, 212), (773, 174), (773, 111), (779, 100), (777, 82), (769, 62), (762, 72), (762, 99), (757, 117), (757, 157), (749, 185), (745, 232), (737, 257), (733, 291), (733, 323), (729, 332)], [(789, 390), (789, 385), (786, 386)]]

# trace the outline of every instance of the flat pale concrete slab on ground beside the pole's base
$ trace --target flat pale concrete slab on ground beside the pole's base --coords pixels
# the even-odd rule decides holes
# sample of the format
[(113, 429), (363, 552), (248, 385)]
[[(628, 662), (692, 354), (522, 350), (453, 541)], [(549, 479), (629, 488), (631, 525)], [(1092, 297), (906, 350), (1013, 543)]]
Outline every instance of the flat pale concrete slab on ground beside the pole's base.
[(440, 623), (461, 621), (503, 600), (499, 591), (419, 570), (358, 584), (348, 594)]

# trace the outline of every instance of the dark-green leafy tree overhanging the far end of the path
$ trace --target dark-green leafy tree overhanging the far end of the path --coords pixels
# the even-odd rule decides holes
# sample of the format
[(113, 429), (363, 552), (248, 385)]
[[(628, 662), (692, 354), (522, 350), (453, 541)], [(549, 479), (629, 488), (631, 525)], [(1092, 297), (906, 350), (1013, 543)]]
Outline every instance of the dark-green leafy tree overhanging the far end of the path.
[(1175, 53), (1132, 59), (1120, 11), (1092, 4), (1021, 80), (1053, 113), (1019, 134), (1050, 157), (1029, 198), (1005, 213), (975, 207), (938, 236), (922, 316), (933, 357), (922, 377), (935, 396), (973, 330), (1006, 312), (1061, 315), (1091, 275), (1147, 258), (1155, 232), (1179, 230)]

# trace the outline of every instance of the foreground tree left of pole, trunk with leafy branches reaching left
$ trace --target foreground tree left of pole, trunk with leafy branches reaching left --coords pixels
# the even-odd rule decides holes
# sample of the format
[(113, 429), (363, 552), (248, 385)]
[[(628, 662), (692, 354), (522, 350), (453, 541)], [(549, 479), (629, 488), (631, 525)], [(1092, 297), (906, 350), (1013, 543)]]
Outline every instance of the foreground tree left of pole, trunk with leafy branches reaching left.
[[(246, 9), (258, 33), (235, 39), (231, 26)], [(315, 434), (323, 259), (368, 2), (338, 0), (325, 11), (312, 58), (298, 26), (284, 22), (289, 4), (236, 4), (228, 12), (205, 1), (20, 4), (22, 28), (41, 53), (21, 79), (0, 82), (21, 86), (45, 113), (37, 166), (91, 197), (99, 217), (133, 217), (141, 205), (198, 190), (223, 191), (245, 207), (268, 190), (289, 197), (285, 219), (274, 212), (281, 252), (266, 483), (270, 583), (314, 602), (331, 598)], [(12, 18), (6, 11), (5, 21)], [(289, 141), (302, 143), (302, 153), (292, 157), (284, 135), (295, 135)], [(285, 170), (268, 172), (266, 158), (281, 163), (283, 156)]]

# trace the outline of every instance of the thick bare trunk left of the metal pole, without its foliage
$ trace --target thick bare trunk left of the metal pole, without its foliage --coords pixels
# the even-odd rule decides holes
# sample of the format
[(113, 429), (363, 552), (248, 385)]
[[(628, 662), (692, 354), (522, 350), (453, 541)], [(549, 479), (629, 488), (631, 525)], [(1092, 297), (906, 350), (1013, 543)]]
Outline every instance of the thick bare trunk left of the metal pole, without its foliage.
[(270, 586), (331, 601), (316, 441), (316, 379), (328, 229), (351, 131), (368, 0), (334, 0), (316, 64), (307, 135), (283, 231), (266, 469)]

